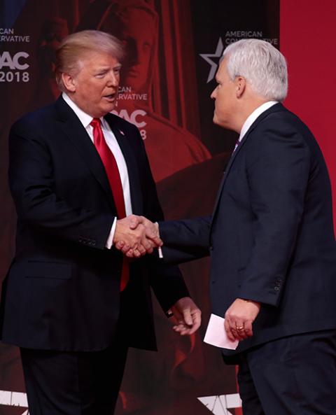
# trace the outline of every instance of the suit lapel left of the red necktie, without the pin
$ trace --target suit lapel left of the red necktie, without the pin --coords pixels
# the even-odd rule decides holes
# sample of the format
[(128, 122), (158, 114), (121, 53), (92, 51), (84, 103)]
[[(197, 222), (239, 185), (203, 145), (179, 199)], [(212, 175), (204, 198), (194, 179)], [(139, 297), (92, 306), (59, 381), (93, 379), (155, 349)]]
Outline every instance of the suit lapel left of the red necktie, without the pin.
[(85, 160), (93, 176), (97, 179), (99, 185), (101, 185), (104, 189), (113, 211), (116, 211), (116, 205), (113, 201), (113, 195), (109, 180), (106, 176), (104, 164), (102, 163), (94, 144), (90, 140), (90, 137), (87, 135), (87, 131), (62, 97), (57, 99), (55, 106), (59, 115), (59, 121), (62, 122), (62, 131), (71, 143), (73, 143), (73, 146), (77, 148), (78, 153), (80, 153), (83, 160)]

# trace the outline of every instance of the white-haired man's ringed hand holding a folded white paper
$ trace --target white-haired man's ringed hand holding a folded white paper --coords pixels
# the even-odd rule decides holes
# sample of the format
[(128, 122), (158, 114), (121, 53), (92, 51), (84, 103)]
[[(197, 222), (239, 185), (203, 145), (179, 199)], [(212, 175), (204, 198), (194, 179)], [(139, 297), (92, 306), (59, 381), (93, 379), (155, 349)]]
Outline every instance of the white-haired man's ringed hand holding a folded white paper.
[(260, 311), (260, 302), (237, 298), (225, 313), (225, 332), (230, 340), (244, 340), (253, 335), (252, 323)]

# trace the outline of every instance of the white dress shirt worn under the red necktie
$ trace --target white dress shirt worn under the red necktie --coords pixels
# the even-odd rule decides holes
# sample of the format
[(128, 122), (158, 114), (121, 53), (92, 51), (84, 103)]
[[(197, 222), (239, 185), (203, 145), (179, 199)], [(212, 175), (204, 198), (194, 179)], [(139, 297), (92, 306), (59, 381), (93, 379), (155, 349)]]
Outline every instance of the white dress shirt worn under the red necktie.
[[(68, 104), (70, 108), (73, 110), (73, 112), (77, 115), (78, 119), (83, 124), (83, 127), (86, 129), (87, 134), (93, 143), (93, 127), (90, 125), (90, 122), (93, 119), (92, 116), (88, 115), (83, 110), (81, 110), (64, 92), (62, 92), (62, 98), (64, 99), (64, 101), (66, 101), (66, 104)], [(120, 150), (116, 136), (113, 134), (109, 126), (109, 123), (106, 122), (106, 120), (104, 120), (104, 117), (100, 118), (100, 120), (102, 122), (102, 131), (105, 137), (105, 141), (117, 162), (121, 184), (123, 185), (126, 216), (129, 216), (132, 214), (132, 204), (130, 194), (130, 180), (128, 177), (125, 158), (123, 152)], [(109, 238), (106, 241), (106, 248), (111, 248), (111, 246), (113, 245), (113, 237), (114, 232), (116, 230), (116, 220), (117, 218), (113, 222)]]

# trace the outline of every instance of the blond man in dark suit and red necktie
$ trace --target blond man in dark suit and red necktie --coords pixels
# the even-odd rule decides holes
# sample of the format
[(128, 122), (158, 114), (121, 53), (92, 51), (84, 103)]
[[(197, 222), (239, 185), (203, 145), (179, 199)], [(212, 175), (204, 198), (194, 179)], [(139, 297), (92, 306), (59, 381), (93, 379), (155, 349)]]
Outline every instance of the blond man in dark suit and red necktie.
[(101, 31), (64, 39), (62, 96), (10, 131), (16, 253), (3, 283), (1, 339), (20, 346), (31, 415), (112, 415), (129, 346), (155, 350), (150, 286), (164, 311), (200, 326), (176, 267), (150, 255), (161, 241), (130, 230), (132, 213), (162, 220), (137, 128), (111, 114), (123, 50)]

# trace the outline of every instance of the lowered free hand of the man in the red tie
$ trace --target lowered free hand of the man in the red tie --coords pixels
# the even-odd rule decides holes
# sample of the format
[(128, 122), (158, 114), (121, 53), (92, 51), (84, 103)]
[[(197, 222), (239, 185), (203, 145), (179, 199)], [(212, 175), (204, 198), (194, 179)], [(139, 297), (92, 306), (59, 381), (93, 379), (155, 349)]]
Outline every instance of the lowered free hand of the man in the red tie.
[(190, 297), (183, 297), (176, 301), (170, 311), (174, 315), (173, 330), (181, 336), (192, 335), (200, 328), (202, 313)]

